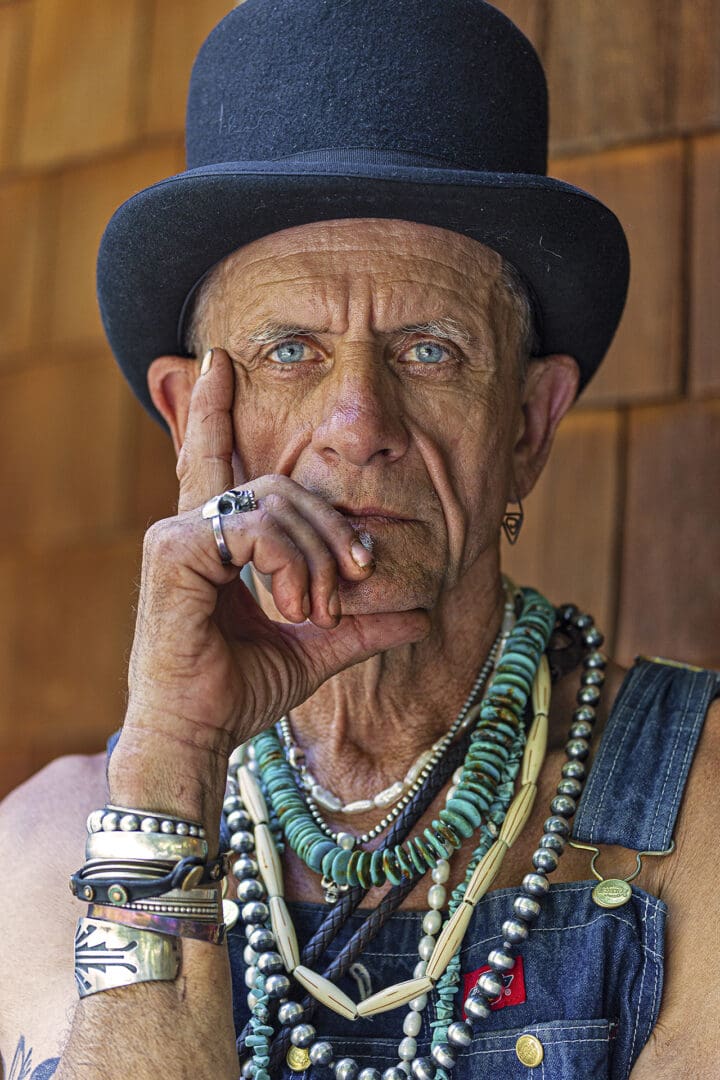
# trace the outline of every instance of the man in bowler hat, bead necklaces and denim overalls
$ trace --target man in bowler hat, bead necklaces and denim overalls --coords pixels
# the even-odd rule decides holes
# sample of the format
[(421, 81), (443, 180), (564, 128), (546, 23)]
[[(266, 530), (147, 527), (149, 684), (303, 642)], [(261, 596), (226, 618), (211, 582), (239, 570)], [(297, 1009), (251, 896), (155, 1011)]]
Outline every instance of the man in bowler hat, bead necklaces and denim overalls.
[[(59, 761), (3, 810), (17, 1076), (715, 1075), (688, 987), (715, 903), (720, 684), (657, 664), (624, 678), (566, 610), (584, 648), (563, 671), (551, 642), (548, 710), (553, 613), (500, 575), (506, 508), (601, 361), (627, 275), (612, 215), (543, 175), (543, 94), (480, 0), (420, 17), (248, 0), (204, 46), (193, 167), (121, 207), (100, 253), (108, 334), (172, 434), (180, 497), (148, 532), (107, 781), (105, 756)], [(256, 735), (225, 802), (230, 962), (206, 913), (228, 764)], [(590, 738), (574, 836), (602, 846), (604, 891), (566, 843)], [(388, 846), (411, 807), (411, 839)], [(623, 848), (660, 852), (635, 890)], [(363, 913), (418, 879), (324, 982)], [(311, 962), (328, 899), (358, 890)], [(466, 922), (440, 964), (448, 906)], [(389, 986), (403, 1009), (383, 1011)]]

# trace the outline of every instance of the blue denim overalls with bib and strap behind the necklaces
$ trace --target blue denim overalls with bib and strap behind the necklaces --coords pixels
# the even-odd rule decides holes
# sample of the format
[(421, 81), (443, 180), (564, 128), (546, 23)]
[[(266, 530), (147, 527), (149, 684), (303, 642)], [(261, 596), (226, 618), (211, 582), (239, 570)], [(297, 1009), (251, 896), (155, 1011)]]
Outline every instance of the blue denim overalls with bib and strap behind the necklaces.
[[(573, 823), (573, 838), (595, 846), (623, 845), (636, 851), (664, 851), (673, 840), (682, 793), (708, 705), (720, 696), (720, 673), (669, 662), (639, 660), (625, 677), (597, 747)], [(549, 812), (549, 811), (548, 811)], [(223, 837), (227, 842), (227, 835)], [(589, 862), (588, 853), (588, 862)], [(671, 856), (670, 856), (671, 858)], [(602, 866), (602, 863), (600, 863)], [(507, 1003), (478, 1025), (461, 1049), (451, 1080), (626, 1080), (653, 1029), (663, 991), (664, 930), (667, 907), (631, 887), (627, 904), (599, 907), (592, 897), (596, 880), (551, 887), (528, 941), (517, 951), (521, 973), (506, 985)], [(478, 904), (461, 947), (463, 974), (477, 977), (491, 948), (502, 944), (501, 927), (512, 917), (517, 888), (489, 892)], [(300, 946), (322, 922), (327, 908), (289, 905)], [(362, 978), (338, 985), (354, 1000), (410, 978), (418, 962), (419, 912), (398, 912), (358, 958)], [(323, 967), (358, 929), (354, 915), (328, 949)], [(244, 983), (245, 934), (239, 922), (228, 935), (235, 1027), (248, 1018)], [(358, 989), (364, 985), (364, 993)], [(506, 983), (512, 983), (506, 976)], [(353, 1023), (321, 1008), (317, 1038), (329, 1038), (336, 1059), (352, 1056), (361, 1068), (382, 1071), (396, 1065), (407, 1007)], [(422, 1013), (418, 1053), (430, 1052), (432, 1001)], [(460, 1018), (460, 1014), (456, 1018)], [(516, 1051), (522, 1035), (543, 1049), (542, 1061), (524, 1065)], [(282, 1080), (328, 1080), (327, 1068), (293, 1072)], [(273, 1077), (273, 1080), (276, 1080)], [(277, 1078), (280, 1080), (280, 1077)]]

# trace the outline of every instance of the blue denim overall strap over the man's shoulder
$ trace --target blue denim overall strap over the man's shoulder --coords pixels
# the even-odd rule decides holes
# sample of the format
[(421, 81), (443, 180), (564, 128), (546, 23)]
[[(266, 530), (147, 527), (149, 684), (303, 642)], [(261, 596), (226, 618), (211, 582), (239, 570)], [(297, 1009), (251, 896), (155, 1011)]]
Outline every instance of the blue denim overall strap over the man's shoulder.
[(720, 673), (640, 658), (617, 693), (585, 785), (573, 837), (665, 851)]

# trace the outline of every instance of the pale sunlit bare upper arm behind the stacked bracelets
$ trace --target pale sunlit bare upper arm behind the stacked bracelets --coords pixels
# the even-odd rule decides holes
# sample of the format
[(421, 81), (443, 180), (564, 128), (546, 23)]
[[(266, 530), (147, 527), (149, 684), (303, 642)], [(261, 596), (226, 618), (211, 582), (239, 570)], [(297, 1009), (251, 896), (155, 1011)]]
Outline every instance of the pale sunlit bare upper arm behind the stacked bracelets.
[(68, 878), (83, 861), (87, 814), (106, 801), (98, 754), (58, 758), (0, 804), (0, 852), (12, 868), (0, 878), (0, 1076), (53, 1075), (77, 1000), (72, 947), (81, 909)]

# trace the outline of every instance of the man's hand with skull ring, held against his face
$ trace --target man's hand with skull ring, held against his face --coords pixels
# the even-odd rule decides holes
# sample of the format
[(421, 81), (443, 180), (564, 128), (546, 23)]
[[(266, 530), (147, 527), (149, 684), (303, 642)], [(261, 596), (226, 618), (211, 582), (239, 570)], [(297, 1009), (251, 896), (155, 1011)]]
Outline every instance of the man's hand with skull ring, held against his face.
[[(419, 611), (342, 616), (341, 580), (375, 572), (348, 518), (287, 476), (253, 478), (257, 511), (222, 519), (223, 566), (201, 507), (233, 486), (233, 370), (214, 350), (193, 389), (178, 459), (179, 513), (149, 530), (130, 669), (128, 720), (174, 718), (192, 738), (234, 745), (305, 700), (351, 664), (419, 640)], [(239, 578), (267, 575), (287, 622), (267, 618)], [(307, 620), (307, 621), (305, 621)]]

